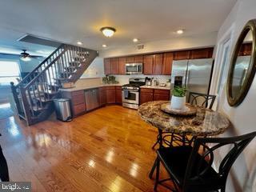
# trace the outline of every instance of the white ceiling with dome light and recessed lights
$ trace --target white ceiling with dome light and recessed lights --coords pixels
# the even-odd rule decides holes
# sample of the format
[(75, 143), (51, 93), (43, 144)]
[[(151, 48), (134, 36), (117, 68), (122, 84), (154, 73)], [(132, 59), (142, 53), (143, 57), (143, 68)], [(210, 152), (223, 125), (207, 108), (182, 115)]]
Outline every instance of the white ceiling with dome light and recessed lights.
[[(218, 31), (236, 0), (8, 0), (0, 6), (0, 47), (33, 53), (53, 48), (17, 42), (34, 34), (58, 42), (83, 42), (94, 50)], [(113, 26), (106, 38), (99, 29)]]

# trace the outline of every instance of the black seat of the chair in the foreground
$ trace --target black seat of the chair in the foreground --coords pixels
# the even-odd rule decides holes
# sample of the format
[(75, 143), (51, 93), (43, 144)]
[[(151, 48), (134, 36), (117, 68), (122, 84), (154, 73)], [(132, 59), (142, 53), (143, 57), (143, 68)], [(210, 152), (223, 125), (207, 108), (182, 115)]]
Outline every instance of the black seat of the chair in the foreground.
[[(162, 162), (163, 166), (166, 167), (166, 170), (170, 174), (170, 176), (175, 180), (175, 182), (178, 183), (179, 186), (182, 186), (185, 174), (186, 174), (186, 166), (188, 164), (188, 161), (190, 159), (190, 154), (192, 152), (193, 148), (191, 146), (176, 146), (176, 147), (166, 147), (161, 148), (157, 151), (158, 158)], [(202, 159), (202, 156), (200, 154), (196, 155), (196, 161), (200, 162), (202, 160), (202, 168), (200, 170), (203, 170), (208, 166), (208, 163), (206, 160)], [(195, 165), (197, 167), (197, 165)], [(197, 176), (197, 170), (192, 169), (191, 178), (194, 178), (194, 184), (196, 182), (202, 182), (202, 178), (198, 178)], [(206, 171), (206, 174), (204, 174), (204, 178), (208, 178), (207, 181), (203, 182), (213, 182), (218, 178), (218, 174), (216, 171), (210, 166), (210, 168)], [(200, 181), (199, 181), (200, 180)]]

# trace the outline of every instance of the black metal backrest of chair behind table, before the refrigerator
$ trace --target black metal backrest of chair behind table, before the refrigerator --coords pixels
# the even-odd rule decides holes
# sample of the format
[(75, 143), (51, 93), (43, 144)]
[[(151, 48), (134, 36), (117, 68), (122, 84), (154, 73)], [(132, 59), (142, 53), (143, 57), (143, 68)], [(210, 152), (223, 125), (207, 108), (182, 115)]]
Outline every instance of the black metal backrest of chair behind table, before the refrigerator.
[(216, 95), (213, 94), (200, 94), (195, 92), (190, 92), (188, 102), (191, 105), (203, 106), (211, 109), (214, 106)]

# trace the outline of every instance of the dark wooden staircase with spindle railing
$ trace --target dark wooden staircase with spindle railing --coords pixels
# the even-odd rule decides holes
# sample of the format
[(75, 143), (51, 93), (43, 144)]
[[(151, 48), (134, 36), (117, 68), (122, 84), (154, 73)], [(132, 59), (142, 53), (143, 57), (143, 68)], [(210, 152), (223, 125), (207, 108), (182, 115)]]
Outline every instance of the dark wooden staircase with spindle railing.
[(62, 44), (17, 86), (10, 82), (19, 117), (29, 126), (46, 120), (63, 83), (76, 82), (97, 56), (95, 50)]

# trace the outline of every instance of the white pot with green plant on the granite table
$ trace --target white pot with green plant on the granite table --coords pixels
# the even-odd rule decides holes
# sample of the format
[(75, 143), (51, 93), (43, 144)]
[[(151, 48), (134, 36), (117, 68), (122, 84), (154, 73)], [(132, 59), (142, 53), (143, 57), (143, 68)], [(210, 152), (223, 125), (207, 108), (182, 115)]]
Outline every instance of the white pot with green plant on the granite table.
[(186, 86), (174, 86), (170, 100), (170, 108), (182, 110), (186, 105)]

